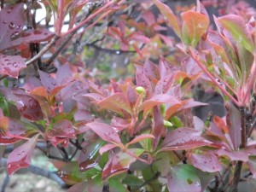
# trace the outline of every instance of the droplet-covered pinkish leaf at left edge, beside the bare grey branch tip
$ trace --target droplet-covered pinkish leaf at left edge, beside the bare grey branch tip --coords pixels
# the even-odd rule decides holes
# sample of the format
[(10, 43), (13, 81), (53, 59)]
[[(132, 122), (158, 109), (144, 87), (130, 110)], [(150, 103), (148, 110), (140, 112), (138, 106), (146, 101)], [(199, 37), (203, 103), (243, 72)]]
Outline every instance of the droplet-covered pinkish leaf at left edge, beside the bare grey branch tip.
[(0, 54), (0, 73), (18, 78), (20, 70), (26, 68), (26, 63), (19, 55), (9, 56)]

